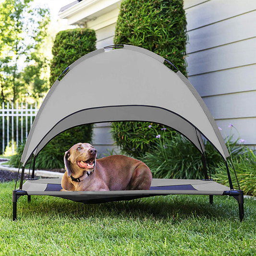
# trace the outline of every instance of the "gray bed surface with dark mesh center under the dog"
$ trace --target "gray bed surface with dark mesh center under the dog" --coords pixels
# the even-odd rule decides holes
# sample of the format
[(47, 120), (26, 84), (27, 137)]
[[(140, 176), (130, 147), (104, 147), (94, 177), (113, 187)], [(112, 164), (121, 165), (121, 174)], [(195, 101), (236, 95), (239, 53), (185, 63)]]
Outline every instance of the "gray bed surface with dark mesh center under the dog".
[(149, 190), (125, 191), (60, 191), (61, 178), (27, 180), (27, 195), (51, 195), (82, 203), (104, 203), (155, 195), (223, 195), (230, 188), (214, 181), (153, 179)]

